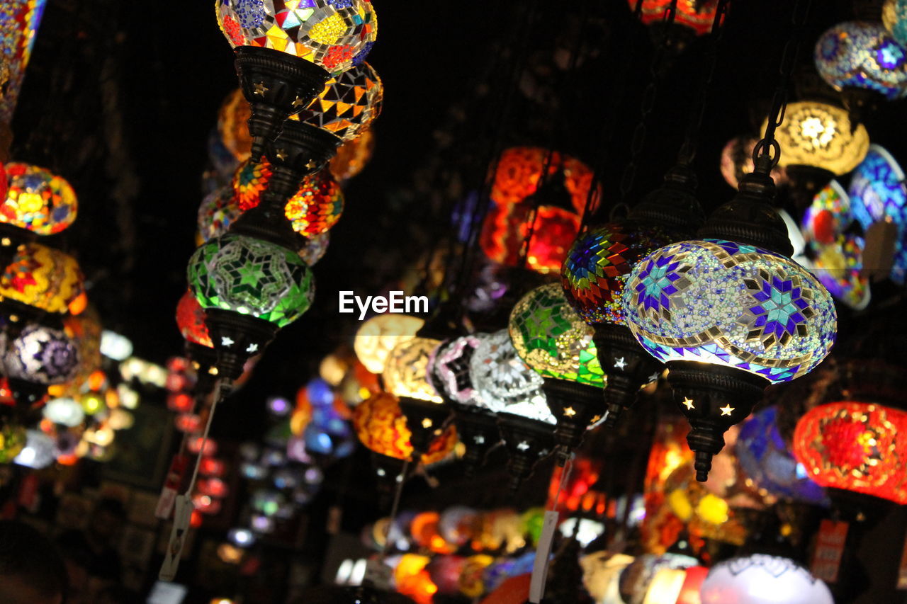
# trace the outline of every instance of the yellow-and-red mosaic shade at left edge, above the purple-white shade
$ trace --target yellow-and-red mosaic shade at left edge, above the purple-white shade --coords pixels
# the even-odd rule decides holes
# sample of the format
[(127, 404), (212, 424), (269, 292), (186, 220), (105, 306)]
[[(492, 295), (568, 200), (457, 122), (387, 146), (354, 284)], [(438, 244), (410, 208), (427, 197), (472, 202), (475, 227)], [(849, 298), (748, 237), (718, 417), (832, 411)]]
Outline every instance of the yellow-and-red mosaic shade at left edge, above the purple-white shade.
[(49, 313), (69, 312), (83, 293), (82, 270), (75, 258), (39, 243), (19, 246), (0, 277), (0, 297)]

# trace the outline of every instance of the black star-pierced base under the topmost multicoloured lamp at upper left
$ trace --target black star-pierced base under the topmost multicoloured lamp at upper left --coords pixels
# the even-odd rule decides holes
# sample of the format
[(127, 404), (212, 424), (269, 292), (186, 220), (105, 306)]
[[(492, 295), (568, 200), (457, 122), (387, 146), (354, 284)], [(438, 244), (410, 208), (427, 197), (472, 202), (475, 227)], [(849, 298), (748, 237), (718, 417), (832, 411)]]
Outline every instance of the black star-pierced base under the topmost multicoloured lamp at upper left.
[(266, 141), (275, 140), (288, 117), (305, 109), (330, 79), (330, 73), (315, 63), (258, 46), (236, 48), (236, 72), (252, 106), (249, 133), (256, 160)]

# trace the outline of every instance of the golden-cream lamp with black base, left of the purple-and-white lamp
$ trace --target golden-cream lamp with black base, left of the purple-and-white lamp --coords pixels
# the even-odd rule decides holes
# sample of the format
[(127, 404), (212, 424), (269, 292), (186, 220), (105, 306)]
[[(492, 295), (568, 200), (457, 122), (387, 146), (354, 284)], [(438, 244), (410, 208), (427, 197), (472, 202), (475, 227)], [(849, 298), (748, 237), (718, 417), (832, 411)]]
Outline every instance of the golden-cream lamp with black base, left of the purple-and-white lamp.
[(453, 409), (429, 380), (429, 362), (440, 340), (416, 336), (394, 347), (382, 374), (385, 389), (399, 399), (416, 453), (424, 454), (453, 419)]

